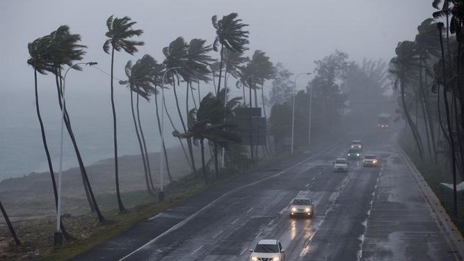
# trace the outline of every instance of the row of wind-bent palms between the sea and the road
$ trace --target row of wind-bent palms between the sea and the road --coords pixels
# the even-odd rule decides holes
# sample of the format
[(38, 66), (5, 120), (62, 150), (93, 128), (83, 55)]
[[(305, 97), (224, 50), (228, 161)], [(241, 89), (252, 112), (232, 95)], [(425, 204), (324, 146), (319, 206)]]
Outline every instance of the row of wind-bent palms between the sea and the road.
[[(182, 148), (185, 148), (186, 141), (187, 150), (184, 149), (186, 159), (191, 166), (192, 173), (197, 175), (198, 169), (195, 166), (193, 145), (199, 145), (202, 159), (202, 179), (209, 182), (207, 175), (207, 164), (205, 161), (205, 140), (208, 145), (214, 149), (214, 172), (216, 179), (218, 178), (218, 151), (220, 148), (227, 148), (230, 143), (240, 143), (241, 139), (234, 132), (234, 125), (231, 122), (234, 118), (234, 110), (238, 107), (246, 107), (245, 88), (249, 88), (248, 104), (253, 107), (252, 89), (255, 92), (255, 104), (258, 106), (257, 89), (263, 88), (264, 81), (272, 79), (275, 75), (273, 63), (266, 54), (260, 50), (254, 52), (251, 58), (243, 56), (243, 52), (248, 50), (248, 24), (243, 24), (238, 18), (237, 13), (225, 15), (222, 19), (218, 19), (216, 15), (211, 18), (212, 25), (216, 30), (216, 36), (212, 45), (207, 45), (206, 40), (195, 38), (186, 42), (184, 38), (179, 37), (170, 42), (167, 47), (164, 47), (162, 52), (164, 59), (159, 63), (149, 54), (145, 54), (135, 63), (127, 61), (125, 65), (126, 79), (120, 80), (121, 86), (126, 86), (130, 94), (131, 115), (134, 122), (138, 146), (141, 150), (141, 159), (145, 172), (145, 183), (147, 192), (151, 196), (155, 196), (155, 187), (150, 168), (150, 160), (148, 157), (147, 143), (143, 134), (143, 117), (139, 110), (139, 103), (143, 101), (150, 102), (154, 96), (156, 116), (158, 123), (159, 134), (161, 135), (161, 119), (160, 109), (166, 109), (166, 113), (173, 127), (173, 136), (179, 139)], [(103, 50), (106, 54), (111, 54), (111, 71), (110, 71), (110, 97), (111, 109), (113, 112), (113, 146), (114, 146), (114, 165), (115, 165), (115, 189), (118, 200), (118, 209), (120, 213), (126, 212), (120, 193), (119, 166), (118, 166), (118, 132), (117, 120), (114, 102), (114, 56), (116, 52), (126, 52), (134, 55), (138, 52), (138, 47), (144, 45), (143, 41), (134, 40), (143, 35), (143, 30), (135, 29), (136, 22), (130, 17), (114, 17), (111, 15), (106, 20), (108, 31), (105, 33), (106, 40), (103, 45)], [(49, 153), (47, 136), (45, 134), (45, 125), (40, 114), (40, 101), (38, 95), (38, 74), (52, 74), (56, 81), (58, 108), (63, 110), (63, 120), (67, 133), (72, 140), (74, 152), (79, 162), (83, 187), (88, 198), (88, 204), (92, 212), (97, 215), (99, 223), (105, 223), (102, 212), (99, 210), (95, 193), (93, 192), (90, 180), (86, 172), (86, 167), (83, 164), (81, 153), (77, 145), (77, 141), (72, 131), (70, 115), (67, 113), (65, 103), (63, 102), (63, 76), (62, 72), (65, 67), (72, 66), (73, 69), (81, 70), (75, 65), (83, 59), (86, 54), (86, 46), (81, 45), (81, 36), (71, 33), (69, 26), (60, 26), (56, 31), (49, 35), (37, 38), (29, 43), (30, 58), (27, 61), (34, 71), (34, 90), (35, 90), (35, 109), (38, 116), (40, 131), (42, 134), (42, 143), (47, 157), (51, 183), (54, 190), (54, 198), (56, 206), (58, 206), (58, 192), (56, 188), (56, 180), (51, 156)], [(219, 61), (211, 57), (211, 51), (219, 52)], [(235, 86), (243, 88), (242, 97), (227, 98), (229, 88), (227, 80), (229, 77), (236, 81)], [(209, 83), (213, 81), (214, 93), (208, 93), (201, 97), (200, 83)], [(181, 84), (184, 84), (184, 94), (186, 95), (185, 108), (186, 111), (181, 111), (178, 92), (181, 91)], [(175, 96), (175, 104), (177, 113), (182, 125), (179, 131), (171, 115), (167, 111), (166, 100), (159, 101), (159, 93), (164, 88), (170, 86)], [(197, 90), (197, 94), (194, 94)], [(196, 97), (195, 97), (196, 96)], [(193, 106), (190, 104), (193, 101)], [(242, 102), (243, 101), (243, 102)], [(264, 92), (262, 92), (262, 104), (264, 104)], [(161, 107), (163, 106), (163, 107)], [(251, 118), (250, 118), (251, 119)], [(252, 135), (250, 135), (252, 136)], [(165, 156), (166, 168), (168, 177), (172, 181), (172, 175), (169, 169), (168, 155), (164, 140), (163, 155)], [(257, 146), (250, 142), (250, 154), (252, 157), (257, 154)], [(5, 212), (6, 215), (6, 212)], [(13, 227), (11, 227), (13, 235), (15, 235)], [(61, 230), (65, 235), (65, 239), (72, 240), (73, 237), (65, 231), (65, 227), (61, 222)], [(19, 242), (19, 241), (18, 241)]]

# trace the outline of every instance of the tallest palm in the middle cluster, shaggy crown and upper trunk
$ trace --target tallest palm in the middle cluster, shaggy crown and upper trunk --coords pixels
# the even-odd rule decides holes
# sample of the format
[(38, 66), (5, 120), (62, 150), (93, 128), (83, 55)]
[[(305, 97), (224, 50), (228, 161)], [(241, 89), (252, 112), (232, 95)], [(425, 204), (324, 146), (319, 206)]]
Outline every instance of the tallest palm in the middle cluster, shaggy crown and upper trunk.
[(218, 52), (218, 47), (221, 45), (221, 60), (219, 64), (219, 80), (218, 89), (221, 90), (221, 77), (223, 71), (223, 58), (224, 58), (224, 47), (232, 52), (243, 53), (248, 48), (245, 45), (248, 44), (248, 31), (245, 31), (245, 27), (248, 24), (242, 24), (241, 19), (238, 19), (237, 13), (230, 13), (224, 15), (223, 19), (218, 20), (217, 15), (211, 17), (211, 22), (214, 29), (216, 29), (216, 38), (214, 38), (213, 49), (214, 52)]

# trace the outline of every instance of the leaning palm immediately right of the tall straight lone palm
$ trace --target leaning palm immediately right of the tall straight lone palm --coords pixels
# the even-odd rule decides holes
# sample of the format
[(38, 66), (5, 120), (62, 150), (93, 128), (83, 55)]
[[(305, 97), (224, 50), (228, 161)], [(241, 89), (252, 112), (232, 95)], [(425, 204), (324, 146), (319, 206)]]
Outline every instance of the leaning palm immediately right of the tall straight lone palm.
[[(137, 66), (138, 65), (138, 66)], [(141, 139), (141, 134), (139, 132), (140, 125), (137, 125), (136, 115), (134, 112), (134, 95), (137, 95), (137, 103), (138, 103), (138, 96), (141, 95), (143, 98), (148, 100), (149, 90), (145, 87), (150, 88), (150, 71), (147, 68), (143, 68), (140, 66), (140, 60), (136, 63), (136, 65), (132, 66), (132, 61), (127, 61), (125, 66), (125, 73), (127, 76), (127, 80), (120, 81), (119, 84), (124, 84), (129, 87), (129, 91), (131, 94), (131, 112), (132, 112), (132, 119), (134, 120), (134, 127), (136, 129), (136, 136), (138, 140), (138, 145), (141, 150), (142, 156), (142, 163), (143, 163), (143, 171), (145, 172), (145, 183), (147, 184), (147, 191), (150, 193), (151, 196), (154, 196), (154, 187), (152, 182), (150, 182), (148, 167), (147, 167), (147, 155), (145, 154), (144, 146)], [(142, 86), (141, 86), (142, 85)]]

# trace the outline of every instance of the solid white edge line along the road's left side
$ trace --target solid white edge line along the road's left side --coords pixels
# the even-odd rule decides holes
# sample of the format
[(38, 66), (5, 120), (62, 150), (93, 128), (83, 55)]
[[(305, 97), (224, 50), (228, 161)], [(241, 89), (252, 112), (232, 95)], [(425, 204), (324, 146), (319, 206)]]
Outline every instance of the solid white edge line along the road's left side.
[(271, 178), (273, 177), (278, 177), (280, 175), (282, 175), (282, 173), (285, 173), (289, 170), (291, 170), (292, 168), (296, 168), (297, 166), (300, 166), (301, 164), (305, 163), (306, 161), (318, 156), (318, 155), (321, 155), (323, 152), (326, 152), (327, 150), (330, 150), (332, 148), (335, 147), (335, 145), (337, 145), (339, 141), (337, 141), (336, 143), (334, 143), (333, 145), (330, 145), (328, 146), (327, 148), (315, 153), (314, 155), (310, 156), (310, 157), (307, 157), (306, 159), (303, 159), (302, 161), (298, 162), (297, 164), (294, 164), (294, 166), (290, 166), (289, 168), (285, 168), (285, 170), (283, 171), (280, 171), (279, 173), (275, 173), (274, 175), (271, 175), (269, 177), (263, 177), (261, 180), (257, 180), (255, 182), (251, 182), (249, 184), (246, 184), (246, 185), (243, 185), (241, 187), (238, 187), (238, 188), (235, 188), (235, 189), (232, 189), (230, 191), (228, 191), (227, 193), (223, 193), (222, 196), (220, 196), (219, 198), (216, 198), (215, 200), (211, 201), (208, 205), (206, 205), (205, 207), (202, 207), (201, 209), (199, 209), (197, 212), (191, 214), (191, 216), (187, 217), (186, 219), (184, 219), (183, 221), (180, 221), (179, 223), (177, 223), (176, 225), (174, 225), (173, 227), (169, 228), (168, 230), (164, 231), (163, 233), (161, 233), (160, 235), (158, 235), (157, 237), (154, 237), (154, 239), (150, 240), (149, 242), (145, 243), (143, 246), (137, 248), (136, 250), (132, 251), (131, 253), (127, 254), (124, 258), (121, 258), (119, 261), (122, 261), (122, 260), (125, 260), (126, 258), (129, 258), (129, 256), (131, 255), (134, 255), (134, 253), (136, 253), (137, 251), (141, 250), (142, 248), (144, 248), (145, 246), (148, 246), (150, 244), (153, 244), (154, 242), (157, 242), (157, 240), (159, 240), (161, 237), (164, 237), (166, 235), (168, 235), (170, 232), (173, 232), (174, 230), (177, 230), (178, 228), (181, 228), (182, 226), (184, 226), (186, 223), (189, 223), (189, 221), (191, 221), (192, 219), (195, 218), (195, 216), (198, 216), (201, 212), (205, 211), (206, 209), (209, 209), (209, 207), (211, 207), (212, 205), (216, 204), (219, 200), (225, 198), (226, 196), (229, 196), (230, 194), (232, 193), (235, 193), (237, 191), (239, 191), (240, 189), (245, 189), (246, 187), (251, 187), (255, 184), (258, 184), (258, 183), (261, 183), (263, 181), (266, 181), (266, 180), (270, 180)]

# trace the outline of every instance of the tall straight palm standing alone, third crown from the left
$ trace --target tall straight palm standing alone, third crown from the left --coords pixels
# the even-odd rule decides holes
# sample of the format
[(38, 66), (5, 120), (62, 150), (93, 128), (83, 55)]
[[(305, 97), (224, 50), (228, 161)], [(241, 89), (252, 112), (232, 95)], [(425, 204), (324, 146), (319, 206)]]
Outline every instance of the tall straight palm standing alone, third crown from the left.
[(109, 54), (111, 46), (111, 109), (113, 109), (113, 142), (114, 142), (114, 166), (115, 166), (115, 181), (116, 181), (116, 197), (118, 198), (118, 207), (120, 212), (125, 212), (126, 209), (122, 205), (120, 189), (119, 189), (119, 175), (118, 175), (118, 137), (116, 133), (116, 111), (114, 105), (114, 88), (113, 88), (113, 67), (114, 67), (114, 51), (123, 49), (128, 54), (134, 55), (138, 52), (137, 47), (143, 45), (141, 41), (129, 40), (134, 36), (140, 36), (143, 31), (140, 29), (132, 29), (136, 22), (131, 22), (131, 18), (125, 16), (122, 18), (113, 15), (106, 20), (108, 31), (105, 33), (108, 39), (104, 42), (103, 50)]

